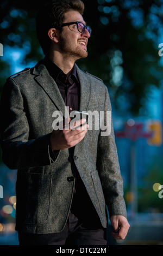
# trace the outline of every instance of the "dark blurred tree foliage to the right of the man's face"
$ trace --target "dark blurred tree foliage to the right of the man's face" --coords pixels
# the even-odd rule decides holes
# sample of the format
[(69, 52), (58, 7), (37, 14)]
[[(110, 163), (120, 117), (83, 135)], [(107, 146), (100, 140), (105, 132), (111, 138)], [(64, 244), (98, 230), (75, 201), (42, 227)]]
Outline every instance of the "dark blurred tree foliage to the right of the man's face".
[(124, 116), (127, 111), (138, 115), (151, 85), (160, 86), (162, 4), (162, 0), (98, 0), (87, 6), (85, 16), (93, 28), (87, 66), (104, 80)]

